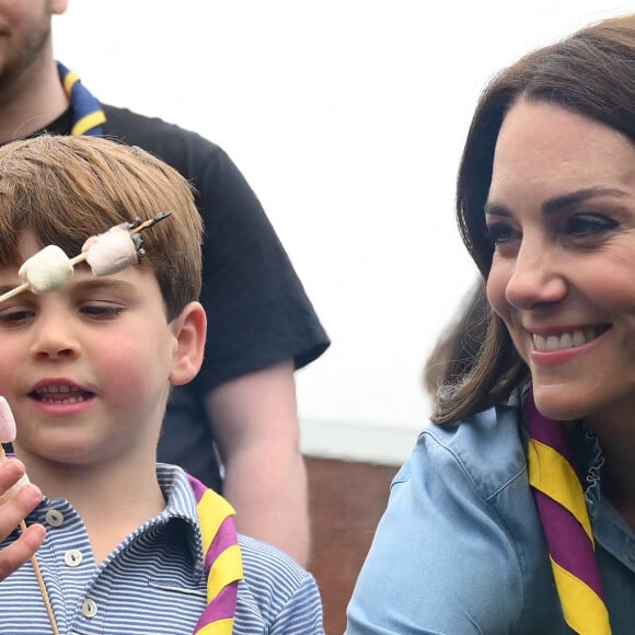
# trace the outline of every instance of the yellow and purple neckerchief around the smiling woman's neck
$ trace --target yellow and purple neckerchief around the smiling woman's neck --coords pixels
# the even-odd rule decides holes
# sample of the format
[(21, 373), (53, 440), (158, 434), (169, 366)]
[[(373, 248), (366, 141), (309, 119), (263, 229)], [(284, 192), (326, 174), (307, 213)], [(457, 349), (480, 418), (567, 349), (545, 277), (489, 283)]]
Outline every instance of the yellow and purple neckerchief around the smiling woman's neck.
[(549, 546), (566, 623), (584, 635), (610, 635), (585, 493), (573, 467), (565, 428), (528, 396), (529, 483)]

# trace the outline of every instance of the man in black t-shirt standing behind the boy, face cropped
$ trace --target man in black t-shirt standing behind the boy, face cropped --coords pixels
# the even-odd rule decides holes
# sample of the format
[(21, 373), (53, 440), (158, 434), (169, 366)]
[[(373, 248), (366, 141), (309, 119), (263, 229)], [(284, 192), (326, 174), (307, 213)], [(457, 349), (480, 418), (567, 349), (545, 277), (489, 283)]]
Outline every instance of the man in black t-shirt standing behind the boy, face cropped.
[(222, 486), (241, 533), (305, 565), (307, 476), (293, 371), (326, 349), (327, 336), (257, 198), (222, 149), (100, 104), (56, 62), (51, 16), (67, 4), (0, 0), (0, 142), (43, 132), (106, 135), (152, 152), (194, 185), (206, 226), (206, 362), (195, 382), (173, 391), (159, 460)]

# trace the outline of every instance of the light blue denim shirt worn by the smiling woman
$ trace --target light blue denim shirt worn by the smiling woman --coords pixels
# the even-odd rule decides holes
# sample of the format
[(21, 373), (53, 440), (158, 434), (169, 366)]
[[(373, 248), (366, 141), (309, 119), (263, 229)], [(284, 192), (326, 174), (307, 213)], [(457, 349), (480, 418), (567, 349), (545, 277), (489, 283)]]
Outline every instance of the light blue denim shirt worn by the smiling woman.
[[(527, 475), (515, 400), (430, 425), (395, 476), (348, 607), (348, 635), (568, 634)], [(613, 635), (635, 633), (635, 534), (600, 499), (602, 457), (578, 431)]]

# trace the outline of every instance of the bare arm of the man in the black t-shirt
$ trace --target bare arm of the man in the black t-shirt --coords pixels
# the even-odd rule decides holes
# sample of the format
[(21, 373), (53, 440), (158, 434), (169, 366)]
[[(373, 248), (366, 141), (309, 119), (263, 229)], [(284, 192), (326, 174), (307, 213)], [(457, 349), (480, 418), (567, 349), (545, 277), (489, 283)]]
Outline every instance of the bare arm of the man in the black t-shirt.
[(223, 495), (236, 510), (238, 530), (307, 566), (307, 473), (293, 362), (228, 381), (208, 394), (206, 404), (226, 470)]

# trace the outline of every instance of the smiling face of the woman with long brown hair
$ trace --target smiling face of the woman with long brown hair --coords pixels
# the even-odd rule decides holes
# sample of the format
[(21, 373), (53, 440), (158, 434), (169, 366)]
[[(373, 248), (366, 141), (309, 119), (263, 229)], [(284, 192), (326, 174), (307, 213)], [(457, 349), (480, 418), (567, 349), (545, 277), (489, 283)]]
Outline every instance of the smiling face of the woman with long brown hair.
[(588, 116), (520, 100), (500, 127), (485, 209), (494, 245), (487, 295), (530, 369), (538, 407), (552, 418), (585, 417), (600, 435), (615, 417), (627, 428), (635, 146)]

